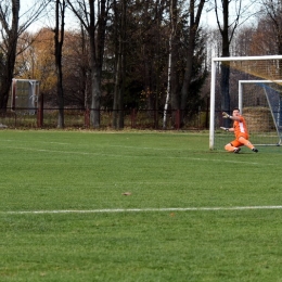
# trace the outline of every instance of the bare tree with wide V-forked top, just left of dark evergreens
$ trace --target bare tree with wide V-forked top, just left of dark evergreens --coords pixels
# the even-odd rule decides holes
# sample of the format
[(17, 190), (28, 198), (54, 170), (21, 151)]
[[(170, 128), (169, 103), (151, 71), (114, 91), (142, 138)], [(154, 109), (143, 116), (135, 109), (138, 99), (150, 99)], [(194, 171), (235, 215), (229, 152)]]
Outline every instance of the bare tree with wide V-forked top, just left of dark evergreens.
[(91, 121), (100, 127), (101, 79), (105, 29), (111, 0), (67, 0), (73, 13), (88, 33), (91, 70)]

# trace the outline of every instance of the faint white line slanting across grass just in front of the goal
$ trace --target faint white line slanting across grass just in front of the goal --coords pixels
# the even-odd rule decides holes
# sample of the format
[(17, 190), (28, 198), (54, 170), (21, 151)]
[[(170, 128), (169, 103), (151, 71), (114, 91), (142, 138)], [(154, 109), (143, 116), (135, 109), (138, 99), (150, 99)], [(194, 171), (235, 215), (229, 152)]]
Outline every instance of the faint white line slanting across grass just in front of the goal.
[[(91, 153), (91, 152), (74, 152), (74, 151), (62, 151), (62, 150), (49, 150), (49, 149), (34, 149), (34, 148), (18, 148), (18, 146), (5, 146), (15, 150), (23, 151), (33, 151), (33, 152), (47, 152), (47, 153), (57, 153), (57, 154), (77, 154), (77, 155), (101, 155), (101, 156), (111, 156), (111, 157), (129, 157), (137, 158), (142, 156), (129, 156), (124, 154), (106, 154), (106, 153)], [(143, 156), (146, 157), (146, 156)], [(219, 163), (231, 163), (231, 164), (246, 164), (246, 165), (260, 165), (260, 166), (272, 166), (274, 164), (265, 164), (265, 163), (256, 163), (256, 162), (242, 162), (242, 161), (229, 161), (229, 159), (216, 159), (216, 158), (202, 158), (202, 157), (189, 157), (189, 156), (162, 156), (163, 158), (178, 158), (178, 159), (191, 159), (191, 161), (201, 161), (201, 162), (219, 162)]]

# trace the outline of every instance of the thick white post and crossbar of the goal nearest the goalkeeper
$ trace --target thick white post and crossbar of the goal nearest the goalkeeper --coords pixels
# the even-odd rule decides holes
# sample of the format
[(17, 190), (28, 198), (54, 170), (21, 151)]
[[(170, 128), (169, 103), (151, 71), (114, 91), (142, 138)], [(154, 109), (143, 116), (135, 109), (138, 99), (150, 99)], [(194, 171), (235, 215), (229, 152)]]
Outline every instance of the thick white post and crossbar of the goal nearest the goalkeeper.
[[(282, 55), (213, 57), (211, 76), (210, 76), (210, 104), (209, 104), (209, 111), (210, 111), (209, 112), (209, 150), (215, 149), (215, 104), (216, 104), (216, 66), (217, 66), (217, 63), (218, 62), (229, 62), (229, 61), (267, 61), (267, 60), (282, 60)], [(264, 80), (264, 81), (267, 81), (267, 80)], [(242, 111), (242, 97), (239, 101), (238, 106), (239, 106), (240, 111)]]

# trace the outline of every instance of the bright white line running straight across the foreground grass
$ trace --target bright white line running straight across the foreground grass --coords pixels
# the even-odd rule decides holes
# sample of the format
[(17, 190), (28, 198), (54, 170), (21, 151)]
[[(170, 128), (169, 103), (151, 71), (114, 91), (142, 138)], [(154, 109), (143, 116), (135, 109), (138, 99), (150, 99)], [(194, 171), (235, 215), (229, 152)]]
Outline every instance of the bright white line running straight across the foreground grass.
[(216, 210), (249, 210), (282, 209), (282, 206), (233, 206), (233, 207), (164, 207), (164, 208), (103, 208), (103, 209), (55, 209), (55, 210), (14, 210), (0, 211), (4, 215), (42, 215), (42, 214), (116, 214), (116, 213), (150, 213), (150, 211), (216, 211)]

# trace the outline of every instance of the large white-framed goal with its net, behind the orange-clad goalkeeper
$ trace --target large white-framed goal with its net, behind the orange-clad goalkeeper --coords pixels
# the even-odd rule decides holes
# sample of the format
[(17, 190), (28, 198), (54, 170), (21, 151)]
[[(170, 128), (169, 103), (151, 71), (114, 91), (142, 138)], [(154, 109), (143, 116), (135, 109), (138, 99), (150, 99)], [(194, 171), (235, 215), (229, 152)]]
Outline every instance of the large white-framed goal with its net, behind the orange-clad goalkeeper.
[[(229, 68), (229, 106), (222, 108), (222, 66)], [(216, 57), (211, 65), (209, 149), (222, 150), (234, 139), (222, 131), (222, 112), (239, 107), (249, 139), (258, 145), (280, 145), (282, 139), (282, 55)], [(232, 127), (232, 120), (229, 120)]]

